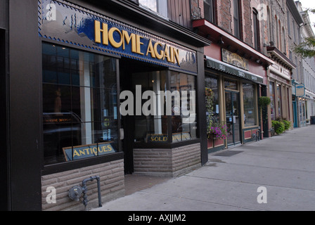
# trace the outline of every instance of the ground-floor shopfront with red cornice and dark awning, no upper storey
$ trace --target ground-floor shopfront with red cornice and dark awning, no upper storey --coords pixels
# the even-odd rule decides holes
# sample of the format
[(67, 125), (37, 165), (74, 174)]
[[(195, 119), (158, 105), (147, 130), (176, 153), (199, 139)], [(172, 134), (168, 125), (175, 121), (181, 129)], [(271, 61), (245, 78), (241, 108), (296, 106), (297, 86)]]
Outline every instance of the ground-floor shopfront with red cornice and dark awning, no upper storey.
[(195, 20), (193, 26), (213, 41), (205, 47), (205, 93), (212, 102), (206, 111), (208, 152), (262, 139), (268, 124), (258, 98), (266, 94), (272, 60), (207, 20)]

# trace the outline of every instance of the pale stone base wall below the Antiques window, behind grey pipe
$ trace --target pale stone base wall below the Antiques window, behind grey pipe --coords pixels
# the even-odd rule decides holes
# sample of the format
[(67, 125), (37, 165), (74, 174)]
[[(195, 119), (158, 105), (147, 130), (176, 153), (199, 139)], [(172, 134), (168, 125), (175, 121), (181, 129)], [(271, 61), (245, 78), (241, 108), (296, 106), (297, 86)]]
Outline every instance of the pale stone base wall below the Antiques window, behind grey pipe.
[[(91, 176), (101, 177), (102, 203), (123, 197), (124, 191), (124, 160), (107, 162), (101, 165), (74, 169), (58, 174), (49, 174), (41, 177), (41, 195), (43, 211), (68, 211), (68, 210), (90, 210), (98, 207), (97, 181), (87, 182), (87, 197), (89, 203), (87, 208), (80, 202), (72, 201), (68, 192), (74, 186), (82, 186), (82, 181)], [(56, 188), (56, 204), (49, 204), (46, 201), (47, 188)]]

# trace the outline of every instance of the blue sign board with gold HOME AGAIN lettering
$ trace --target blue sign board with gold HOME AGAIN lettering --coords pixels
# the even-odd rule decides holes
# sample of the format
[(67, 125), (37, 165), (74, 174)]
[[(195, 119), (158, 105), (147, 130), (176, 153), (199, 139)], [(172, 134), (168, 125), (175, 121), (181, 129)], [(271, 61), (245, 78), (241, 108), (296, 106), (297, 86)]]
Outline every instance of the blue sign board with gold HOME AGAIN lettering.
[(39, 36), (197, 74), (196, 51), (66, 1), (39, 1)]

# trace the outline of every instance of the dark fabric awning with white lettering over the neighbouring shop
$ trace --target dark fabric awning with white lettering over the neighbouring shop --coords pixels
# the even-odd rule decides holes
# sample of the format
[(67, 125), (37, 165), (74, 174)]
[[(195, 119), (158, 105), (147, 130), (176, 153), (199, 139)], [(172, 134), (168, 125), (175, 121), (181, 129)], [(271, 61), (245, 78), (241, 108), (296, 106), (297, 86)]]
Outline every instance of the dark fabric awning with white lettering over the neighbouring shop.
[(234, 75), (236, 77), (240, 77), (243, 79), (248, 79), (252, 82), (255, 82), (257, 84), (264, 84), (264, 78), (260, 77), (259, 75), (255, 75), (251, 72), (248, 72), (246, 70), (242, 70), (240, 68), (236, 68), (233, 65), (229, 65), (227, 63), (223, 63), (219, 60), (216, 60), (214, 58), (206, 57), (207, 58), (207, 67), (212, 68), (214, 70), (219, 70), (222, 72), (226, 72), (229, 75)]

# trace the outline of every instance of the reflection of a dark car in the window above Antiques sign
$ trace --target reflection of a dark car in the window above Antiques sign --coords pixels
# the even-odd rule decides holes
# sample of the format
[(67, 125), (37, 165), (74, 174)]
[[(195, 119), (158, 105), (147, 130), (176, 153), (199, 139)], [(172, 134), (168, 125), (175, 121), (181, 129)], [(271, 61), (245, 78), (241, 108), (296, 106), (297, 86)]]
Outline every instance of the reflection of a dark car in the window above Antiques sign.
[(75, 113), (43, 113), (44, 156), (63, 157), (63, 148), (77, 146), (81, 120)]

